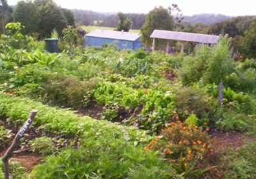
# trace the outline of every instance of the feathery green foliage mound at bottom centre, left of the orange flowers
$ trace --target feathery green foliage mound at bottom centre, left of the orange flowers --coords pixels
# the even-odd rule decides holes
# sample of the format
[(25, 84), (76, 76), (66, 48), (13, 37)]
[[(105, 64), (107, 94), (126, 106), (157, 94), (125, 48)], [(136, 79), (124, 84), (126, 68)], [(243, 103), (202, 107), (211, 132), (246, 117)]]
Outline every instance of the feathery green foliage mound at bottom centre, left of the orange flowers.
[(154, 152), (143, 152), (120, 140), (92, 137), (77, 150), (69, 148), (58, 156), (47, 157), (45, 164), (35, 168), (31, 178), (95, 178), (95, 173), (102, 178), (166, 178), (167, 168), (166, 162)]

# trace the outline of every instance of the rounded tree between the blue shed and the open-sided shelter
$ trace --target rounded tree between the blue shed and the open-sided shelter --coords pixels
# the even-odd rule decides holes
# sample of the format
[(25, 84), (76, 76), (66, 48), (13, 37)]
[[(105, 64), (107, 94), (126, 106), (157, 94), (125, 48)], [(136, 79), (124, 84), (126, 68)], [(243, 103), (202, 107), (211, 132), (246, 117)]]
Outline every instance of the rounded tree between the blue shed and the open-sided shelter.
[[(173, 29), (173, 26), (174, 20), (170, 12), (162, 6), (159, 8), (156, 7), (148, 13), (145, 24), (141, 28), (141, 42), (150, 46), (153, 41), (150, 35), (154, 29), (170, 31)], [(163, 43), (165, 44), (166, 42), (157, 39), (156, 47), (161, 47)]]

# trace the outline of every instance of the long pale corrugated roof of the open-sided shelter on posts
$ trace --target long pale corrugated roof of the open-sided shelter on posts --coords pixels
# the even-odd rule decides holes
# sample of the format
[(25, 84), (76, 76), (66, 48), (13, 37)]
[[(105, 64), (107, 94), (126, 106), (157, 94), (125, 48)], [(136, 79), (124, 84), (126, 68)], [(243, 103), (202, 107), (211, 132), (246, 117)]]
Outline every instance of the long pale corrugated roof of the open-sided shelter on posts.
[(196, 33), (183, 33), (175, 31), (154, 30), (151, 38), (164, 38), (170, 40), (182, 40), (188, 42), (200, 43), (217, 43), (220, 36), (217, 35), (204, 35)]

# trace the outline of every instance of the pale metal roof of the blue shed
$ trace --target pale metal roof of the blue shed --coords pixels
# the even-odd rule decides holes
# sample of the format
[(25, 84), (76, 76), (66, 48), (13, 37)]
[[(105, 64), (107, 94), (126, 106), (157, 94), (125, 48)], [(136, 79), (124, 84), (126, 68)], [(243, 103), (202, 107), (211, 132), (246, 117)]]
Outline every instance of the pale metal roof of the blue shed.
[(116, 40), (129, 40), (134, 41), (140, 38), (139, 33), (129, 33), (129, 32), (122, 32), (122, 31), (108, 31), (103, 29), (97, 29), (92, 31), (85, 36), (95, 36), (100, 38), (111, 38)]

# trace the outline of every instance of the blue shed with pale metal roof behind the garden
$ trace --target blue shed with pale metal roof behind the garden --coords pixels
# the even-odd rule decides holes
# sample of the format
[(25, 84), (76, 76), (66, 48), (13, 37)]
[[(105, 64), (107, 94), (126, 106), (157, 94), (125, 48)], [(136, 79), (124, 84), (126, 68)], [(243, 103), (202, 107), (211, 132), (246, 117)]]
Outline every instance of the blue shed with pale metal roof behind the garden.
[(136, 51), (136, 49), (142, 47), (140, 36), (139, 33), (97, 29), (84, 36), (84, 47), (102, 46), (103, 43), (112, 43), (120, 49), (132, 49)]

